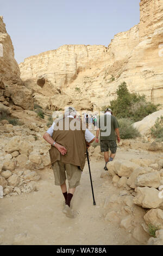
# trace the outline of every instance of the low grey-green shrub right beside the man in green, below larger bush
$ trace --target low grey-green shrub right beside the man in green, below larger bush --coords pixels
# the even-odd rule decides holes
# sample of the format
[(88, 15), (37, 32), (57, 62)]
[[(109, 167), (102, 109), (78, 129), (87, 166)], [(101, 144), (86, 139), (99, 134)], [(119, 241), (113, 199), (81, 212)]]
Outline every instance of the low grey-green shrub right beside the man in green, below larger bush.
[(133, 121), (128, 118), (118, 119), (121, 139), (133, 139), (140, 136), (137, 129), (133, 127)]

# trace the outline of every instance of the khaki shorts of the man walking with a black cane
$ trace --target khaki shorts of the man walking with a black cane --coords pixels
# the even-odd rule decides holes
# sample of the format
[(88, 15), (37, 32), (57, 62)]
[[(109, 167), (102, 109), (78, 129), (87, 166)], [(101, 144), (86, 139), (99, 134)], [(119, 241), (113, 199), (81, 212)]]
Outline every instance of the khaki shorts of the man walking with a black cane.
[(69, 188), (74, 188), (79, 185), (80, 178), (82, 175), (82, 170), (78, 166), (74, 166), (70, 163), (62, 163), (61, 161), (56, 161), (52, 165), (55, 185), (62, 185), (66, 181), (66, 175), (68, 180)]

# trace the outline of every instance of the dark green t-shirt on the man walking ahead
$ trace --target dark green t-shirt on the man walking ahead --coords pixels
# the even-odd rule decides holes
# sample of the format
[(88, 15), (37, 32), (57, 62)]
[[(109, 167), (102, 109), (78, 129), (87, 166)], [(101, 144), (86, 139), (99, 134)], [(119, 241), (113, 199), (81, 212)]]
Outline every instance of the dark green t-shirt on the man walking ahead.
[[(102, 121), (103, 119), (103, 121)], [(100, 119), (99, 119), (99, 128), (101, 129), (100, 130), (100, 140), (101, 141), (105, 141), (106, 139), (109, 140), (109, 141), (116, 141), (116, 133), (115, 133), (115, 129), (117, 129), (119, 127), (118, 125), (118, 121), (117, 119), (113, 116), (113, 115), (110, 115), (110, 118), (108, 118), (108, 124), (106, 124), (106, 114), (103, 115)], [(110, 124), (111, 122), (111, 124)], [(110, 132), (110, 135), (109, 136), (102, 136), (101, 133), (102, 132), (105, 132), (105, 130), (102, 129), (102, 123), (108, 127), (111, 125), (111, 132)]]

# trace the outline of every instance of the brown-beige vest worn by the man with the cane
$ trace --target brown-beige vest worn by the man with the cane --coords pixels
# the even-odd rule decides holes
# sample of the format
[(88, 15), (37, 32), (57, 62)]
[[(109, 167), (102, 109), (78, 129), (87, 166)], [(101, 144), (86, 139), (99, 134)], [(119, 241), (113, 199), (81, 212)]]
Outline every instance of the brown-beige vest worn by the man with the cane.
[[(60, 154), (57, 148), (51, 147), (49, 150), (49, 155), (51, 158), (51, 163), (60, 160), (63, 163), (71, 163), (75, 166), (79, 166), (81, 170), (83, 170), (85, 166), (85, 158), (86, 158), (86, 141), (85, 141), (85, 130), (82, 130), (82, 124), (80, 121), (78, 125), (80, 126), (80, 130), (65, 130), (65, 120), (68, 121), (68, 126), (70, 127), (70, 122), (73, 118), (64, 118), (60, 119), (55, 123), (54, 131), (52, 138), (55, 142), (63, 145), (67, 149), (67, 153), (63, 156)], [(63, 121), (63, 130), (55, 130), (55, 127), (60, 125), (60, 122)]]

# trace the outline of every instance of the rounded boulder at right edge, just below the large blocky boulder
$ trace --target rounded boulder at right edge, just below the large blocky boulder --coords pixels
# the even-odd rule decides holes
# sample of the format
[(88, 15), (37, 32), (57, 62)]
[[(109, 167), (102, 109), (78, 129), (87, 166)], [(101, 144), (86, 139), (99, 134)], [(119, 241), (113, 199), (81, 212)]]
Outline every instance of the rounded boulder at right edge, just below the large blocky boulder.
[(154, 227), (158, 229), (163, 229), (163, 210), (161, 209), (151, 209), (147, 211), (144, 216), (145, 222), (148, 224), (152, 224)]

